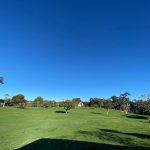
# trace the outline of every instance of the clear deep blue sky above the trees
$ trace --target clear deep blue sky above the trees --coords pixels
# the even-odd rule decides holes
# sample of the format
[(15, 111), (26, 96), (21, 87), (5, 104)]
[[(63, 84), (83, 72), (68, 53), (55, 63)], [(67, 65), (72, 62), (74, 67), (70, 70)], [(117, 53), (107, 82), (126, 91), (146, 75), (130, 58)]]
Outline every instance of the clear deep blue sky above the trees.
[(1, 0), (0, 98), (150, 92), (149, 0)]

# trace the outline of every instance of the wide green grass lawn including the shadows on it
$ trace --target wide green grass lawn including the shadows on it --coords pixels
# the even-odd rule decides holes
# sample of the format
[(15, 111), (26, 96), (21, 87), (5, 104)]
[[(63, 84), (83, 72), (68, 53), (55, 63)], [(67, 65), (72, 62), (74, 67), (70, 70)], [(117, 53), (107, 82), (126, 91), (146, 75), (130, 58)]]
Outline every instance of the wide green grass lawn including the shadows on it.
[(115, 110), (0, 108), (0, 150), (19, 148), (150, 149), (150, 123)]

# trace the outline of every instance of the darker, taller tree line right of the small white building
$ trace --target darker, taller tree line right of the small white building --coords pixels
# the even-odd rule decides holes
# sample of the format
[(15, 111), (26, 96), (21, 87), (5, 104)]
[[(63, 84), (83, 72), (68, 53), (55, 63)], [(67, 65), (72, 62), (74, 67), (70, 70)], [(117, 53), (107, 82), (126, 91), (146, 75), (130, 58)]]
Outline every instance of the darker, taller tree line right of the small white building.
[(120, 96), (112, 96), (109, 99), (91, 98), (89, 102), (86, 102), (86, 106), (121, 110), (125, 111), (126, 114), (130, 112), (150, 115), (150, 94), (144, 94), (139, 99), (134, 100), (130, 100), (130, 95), (130, 93), (125, 92)]

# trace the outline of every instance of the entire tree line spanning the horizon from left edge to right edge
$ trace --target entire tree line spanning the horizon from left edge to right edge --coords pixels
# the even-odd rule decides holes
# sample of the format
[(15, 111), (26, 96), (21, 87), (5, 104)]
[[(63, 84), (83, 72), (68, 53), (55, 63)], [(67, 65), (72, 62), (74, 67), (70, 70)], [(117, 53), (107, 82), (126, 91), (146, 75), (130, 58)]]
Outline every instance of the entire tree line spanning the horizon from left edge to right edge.
[[(3, 77), (0, 77), (0, 84), (3, 84)], [(100, 107), (109, 109), (121, 110), (126, 114), (128, 112), (142, 115), (150, 115), (150, 94), (144, 94), (139, 99), (130, 100), (128, 92), (122, 93), (119, 96), (111, 96), (109, 99), (105, 98), (90, 98), (89, 101), (83, 101), (84, 107)], [(33, 101), (25, 99), (23, 94), (18, 94), (9, 98), (8, 94), (0, 100), (0, 106), (16, 106), (18, 108), (25, 107), (64, 107), (66, 112), (71, 108), (77, 108), (81, 102), (80, 98), (73, 98), (72, 100), (62, 100), (56, 102), (55, 100), (44, 100), (41, 96), (36, 97)]]

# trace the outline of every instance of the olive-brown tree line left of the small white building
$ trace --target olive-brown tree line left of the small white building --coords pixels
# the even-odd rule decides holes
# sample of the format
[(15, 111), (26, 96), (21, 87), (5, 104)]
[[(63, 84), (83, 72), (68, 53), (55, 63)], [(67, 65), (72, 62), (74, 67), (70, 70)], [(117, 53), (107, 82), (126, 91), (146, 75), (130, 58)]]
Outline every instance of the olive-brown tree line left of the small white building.
[(5, 94), (3, 99), (0, 99), (1, 107), (15, 106), (18, 108), (25, 107), (66, 107), (69, 105), (70, 108), (77, 108), (81, 102), (80, 98), (73, 98), (72, 100), (62, 100), (56, 102), (55, 100), (44, 100), (41, 96), (36, 97), (33, 101), (25, 99), (23, 94), (17, 94), (12, 98), (9, 98), (9, 94)]

